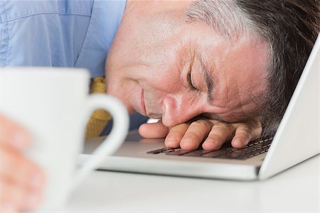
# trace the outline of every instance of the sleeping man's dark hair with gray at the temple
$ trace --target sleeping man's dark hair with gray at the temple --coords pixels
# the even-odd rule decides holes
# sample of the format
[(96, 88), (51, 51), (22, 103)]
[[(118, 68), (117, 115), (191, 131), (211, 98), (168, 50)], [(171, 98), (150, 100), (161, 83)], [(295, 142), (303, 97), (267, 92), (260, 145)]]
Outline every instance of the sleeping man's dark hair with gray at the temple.
[(267, 89), (257, 103), (264, 133), (277, 129), (320, 30), (319, 0), (200, 0), (187, 22), (204, 21), (226, 38), (250, 35), (269, 44)]

